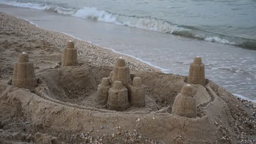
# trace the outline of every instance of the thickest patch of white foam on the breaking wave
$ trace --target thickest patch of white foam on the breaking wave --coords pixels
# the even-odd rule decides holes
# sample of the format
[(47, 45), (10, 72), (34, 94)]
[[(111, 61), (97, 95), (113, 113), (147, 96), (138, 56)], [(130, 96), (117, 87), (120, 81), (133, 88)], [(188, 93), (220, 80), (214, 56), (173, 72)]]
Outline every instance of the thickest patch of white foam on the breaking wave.
[(152, 17), (125, 16), (109, 13), (107, 11), (99, 11), (97, 8), (84, 7), (77, 10), (72, 16), (159, 32), (173, 33), (182, 30), (189, 30)]

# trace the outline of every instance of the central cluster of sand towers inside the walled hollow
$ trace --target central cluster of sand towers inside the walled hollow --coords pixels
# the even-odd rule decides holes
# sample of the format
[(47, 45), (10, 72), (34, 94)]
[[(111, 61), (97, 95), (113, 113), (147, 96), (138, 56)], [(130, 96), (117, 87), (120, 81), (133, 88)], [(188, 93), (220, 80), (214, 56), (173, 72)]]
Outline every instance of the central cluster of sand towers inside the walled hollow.
[[(132, 80), (132, 78), (133, 80)], [(120, 57), (110, 73), (104, 77), (97, 90), (97, 101), (107, 104), (108, 109), (124, 111), (128, 107), (144, 107), (144, 86), (140, 77), (130, 74), (125, 60)]]

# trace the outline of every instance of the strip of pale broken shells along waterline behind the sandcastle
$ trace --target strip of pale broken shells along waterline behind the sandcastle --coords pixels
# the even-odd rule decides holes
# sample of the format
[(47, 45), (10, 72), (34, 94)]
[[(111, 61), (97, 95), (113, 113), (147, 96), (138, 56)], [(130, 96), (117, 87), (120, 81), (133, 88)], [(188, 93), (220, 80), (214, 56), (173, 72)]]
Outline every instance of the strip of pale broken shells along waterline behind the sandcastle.
[[(5, 16), (7, 15), (1, 13), (1, 17), (3, 19), (5, 19)], [(113, 66), (116, 59), (122, 56), (126, 61), (128, 61), (128, 66), (131, 69), (161, 72), (157, 67), (150, 66), (149, 64), (132, 58), (131, 56), (114, 52), (110, 48), (104, 48), (85, 40), (79, 40), (78, 38), (64, 34), (63, 32), (37, 27), (35, 24), (31, 24), (31, 22), (24, 19), (17, 19), (12, 16), (8, 16), (8, 19), (15, 19), (15, 21), (12, 22), (15, 22), (16, 24), (2, 24), (1, 27), (3, 27), (3, 30), (8, 31), (8, 29), (12, 29), (12, 32), (18, 32), (24, 35), (33, 35), (39, 40), (45, 40), (61, 48), (64, 48), (69, 40), (74, 41), (76, 48), (78, 49), (78, 59), (81, 59), (82, 61), (87, 60), (91, 64)], [(22, 29), (16, 26), (22, 27)]]

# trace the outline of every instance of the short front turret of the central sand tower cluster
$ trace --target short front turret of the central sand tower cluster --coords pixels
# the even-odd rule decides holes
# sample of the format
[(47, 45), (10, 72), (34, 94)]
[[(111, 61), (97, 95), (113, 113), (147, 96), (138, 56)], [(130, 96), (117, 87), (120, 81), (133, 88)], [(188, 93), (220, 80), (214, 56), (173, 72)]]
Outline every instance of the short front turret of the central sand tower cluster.
[(107, 107), (110, 110), (123, 111), (129, 107), (128, 90), (123, 87), (121, 81), (115, 81), (109, 89)]

